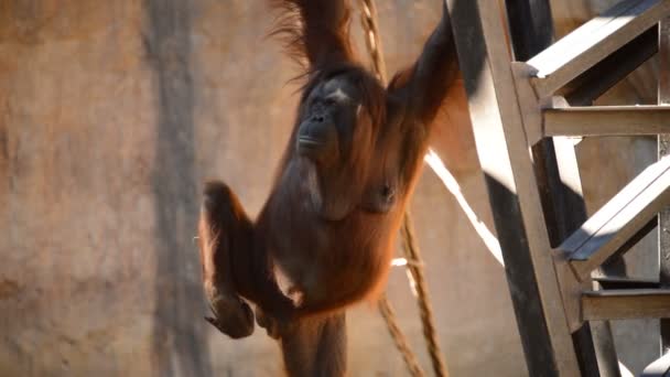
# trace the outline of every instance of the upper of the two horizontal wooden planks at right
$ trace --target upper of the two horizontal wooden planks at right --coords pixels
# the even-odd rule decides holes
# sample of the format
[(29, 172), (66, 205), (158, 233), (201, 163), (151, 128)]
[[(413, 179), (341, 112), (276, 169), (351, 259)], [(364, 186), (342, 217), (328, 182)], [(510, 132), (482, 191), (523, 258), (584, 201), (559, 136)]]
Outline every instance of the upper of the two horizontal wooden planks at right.
[(670, 133), (670, 106), (587, 106), (542, 111), (544, 137)]

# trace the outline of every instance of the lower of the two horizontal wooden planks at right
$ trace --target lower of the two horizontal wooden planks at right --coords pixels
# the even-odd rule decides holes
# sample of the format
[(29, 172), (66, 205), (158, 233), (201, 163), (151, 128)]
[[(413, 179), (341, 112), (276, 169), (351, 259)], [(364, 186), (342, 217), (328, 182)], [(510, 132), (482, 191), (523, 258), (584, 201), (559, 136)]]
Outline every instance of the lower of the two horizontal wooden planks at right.
[(582, 295), (585, 321), (670, 317), (669, 289), (587, 291)]

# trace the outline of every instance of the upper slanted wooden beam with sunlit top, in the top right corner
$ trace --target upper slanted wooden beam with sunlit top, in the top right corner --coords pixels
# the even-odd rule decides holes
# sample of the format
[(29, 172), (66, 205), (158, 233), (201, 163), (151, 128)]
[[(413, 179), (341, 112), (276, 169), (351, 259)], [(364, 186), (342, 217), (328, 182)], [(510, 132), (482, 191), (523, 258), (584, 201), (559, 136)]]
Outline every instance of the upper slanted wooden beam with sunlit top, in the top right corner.
[(626, 0), (586, 22), (526, 64), (538, 98), (570, 80), (670, 14), (670, 0)]

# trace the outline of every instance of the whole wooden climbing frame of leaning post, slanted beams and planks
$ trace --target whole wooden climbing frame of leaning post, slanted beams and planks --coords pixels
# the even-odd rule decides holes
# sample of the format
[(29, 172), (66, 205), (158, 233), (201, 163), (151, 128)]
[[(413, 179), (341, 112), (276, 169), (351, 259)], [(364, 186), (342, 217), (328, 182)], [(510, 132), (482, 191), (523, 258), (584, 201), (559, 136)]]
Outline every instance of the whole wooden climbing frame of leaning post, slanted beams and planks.
[[(586, 218), (570, 137), (670, 133), (670, 0), (625, 0), (553, 44), (548, 0), (447, 3), (529, 374), (619, 376), (607, 320), (670, 317), (669, 247), (659, 281), (620, 258), (659, 220), (670, 246), (670, 157)], [(590, 106), (657, 52), (659, 106)]]

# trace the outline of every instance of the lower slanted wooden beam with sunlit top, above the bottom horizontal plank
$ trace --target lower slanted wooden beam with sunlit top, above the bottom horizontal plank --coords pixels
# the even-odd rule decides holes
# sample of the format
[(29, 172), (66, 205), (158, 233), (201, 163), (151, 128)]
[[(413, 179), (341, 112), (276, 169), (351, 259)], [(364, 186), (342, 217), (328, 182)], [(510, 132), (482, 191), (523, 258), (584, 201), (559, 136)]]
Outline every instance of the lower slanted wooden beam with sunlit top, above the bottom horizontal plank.
[(591, 216), (558, 249), (579, 280), (617, 251), (670, 203), (670, 157), (651, 164)]

